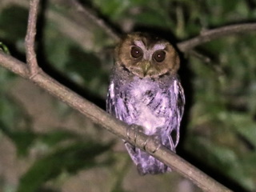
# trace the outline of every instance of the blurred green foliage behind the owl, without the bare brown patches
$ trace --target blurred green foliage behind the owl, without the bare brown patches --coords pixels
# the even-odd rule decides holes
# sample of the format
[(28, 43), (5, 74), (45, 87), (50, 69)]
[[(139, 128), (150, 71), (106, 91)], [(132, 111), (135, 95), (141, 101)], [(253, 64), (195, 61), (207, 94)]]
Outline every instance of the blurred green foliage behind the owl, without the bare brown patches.
[[(94, 0), (84, 3), (97, 10), (100, 17), (116, 28), (162, 31), (174, 36), (176, 41), (194, 37), (202, 30), (252, 21), (256, 16), (253, 1)], [(58, 16), (65, 16), (66, 20), (75, 19), (67, 14), (65, 6), (54, 6), (50, 2), (46, 9)], [(66, 31), (61, 30), (58, 22), (62, 20), (45, 17), (38, 29), (40, 65), (49, 74), (55, 75), (58, 81), (104, 107), (102, 103), (113, 62), (108, 46), (114, 45), (102, 35), (102, 29), (97, 28), (91, 30), (95, 37), (90, 39), (98, 45), (97, 48), (86, 49), (82, 42), (74, 41)], [(8, 48), (10, 54), (23, 61), (26, 19), (25, 7), (0, 6), (0, 51)], [(187, 102), (178, 153), (181, 151), (184, 158), (192, 156), (192, 159), (196, 159), (196, 166), (202, 165), (202, 170), (210, 167), (210, 170), (247, 191), (256, 190), (254, 39), (254, 34), (242, 34), (198, 46), (197, 51), (211, 58), (211, 62), (205, 63), (190, 55), (182, 62), (180, 70)], [(89, 40), (85, 43), (89, 45)], [(76, 174), (78, 170), (110, 165), (110, 158), (101, 163), (95, 161), (99, 154), (106, 154), (110, 144), (103, 145), (95, 140), (90, 144), (89, 141), (81, 142), (77, 135), (65, 131), (35, 133), (28, 114), (8, 94), (7, 88), (13, 80), (13, 74), (0, 70), (2, 135), (14, 142), (18, 157), (26, 157), (38, 142), (44, 143), (49, 149), (23, 174), (18, 191), (36, 191), (44, 182), (58, 178), (63, 172)], [(62, 146), (62, 142), (70, 140), (70, 144)], [(68, 161), (62, 162), (62, 159)], [(125, 173), (121, 174), (121, 178), (124, 178)], [(31, 182), (31, 178), (37, 179)], [(121, 184), (122, 181), (118, 181), (116, 189), (112, 191), (123, 191)], [(26, 188), (28, 186), (31, 188)]]

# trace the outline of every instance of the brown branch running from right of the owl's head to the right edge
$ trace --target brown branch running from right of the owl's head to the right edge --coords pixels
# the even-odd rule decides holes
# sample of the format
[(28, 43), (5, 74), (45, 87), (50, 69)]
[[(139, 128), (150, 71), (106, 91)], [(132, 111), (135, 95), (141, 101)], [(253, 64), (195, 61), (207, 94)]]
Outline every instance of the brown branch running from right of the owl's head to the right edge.
[(178, 43), (178, 49), (182, 52), (193, 49), (195, 46), (199, 46), (205, 42), (210, 42), (216, 38), (222, 38), (226, 35), (256, 32), (256, 23), (238, 24), (232, 26), (222, 26), (214, 30), (204, 30), (202, 34), (199, 34), (195, 38), (191, 38), (184, 42)]

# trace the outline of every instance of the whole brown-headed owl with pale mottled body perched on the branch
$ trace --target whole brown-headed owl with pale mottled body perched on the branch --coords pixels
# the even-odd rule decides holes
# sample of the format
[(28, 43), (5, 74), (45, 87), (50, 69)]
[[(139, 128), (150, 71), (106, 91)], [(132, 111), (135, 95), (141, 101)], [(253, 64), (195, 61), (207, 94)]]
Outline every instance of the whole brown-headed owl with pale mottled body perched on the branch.
[[(178, 78), (179, 57), (174, 46), (151, 34), (126, 34), (114, 51), (114, 67), (106, 110), (130, 127), (140, 127), (175, 152), (185, 97)], [(158, 159), (125, 142), (138, 173), (170, 170)]]

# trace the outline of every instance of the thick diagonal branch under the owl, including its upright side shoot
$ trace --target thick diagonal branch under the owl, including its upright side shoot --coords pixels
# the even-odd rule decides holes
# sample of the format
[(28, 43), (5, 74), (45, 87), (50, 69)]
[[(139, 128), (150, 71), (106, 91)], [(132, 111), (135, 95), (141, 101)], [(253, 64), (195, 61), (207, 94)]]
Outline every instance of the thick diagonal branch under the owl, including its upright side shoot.
[[(220, 183), (216, 182), (213, 178), (210, 178), (204, 174), (201, 170), (198, 170), (196, 167), (192, 166), (189, 162), (186, 162), (184, 159), (180, 158), (177, 154), (174, 154), (172, 151), (168, 150), (165, 146), (159, 146), (159, 144), (154, 142), (153, 139), (149, 139), (146, 134), (131, 133), (129, 138), (127, 138), (126, 130), (129, 127), (124, 122), (112, 117), (98, 106), (88, 102), (85, 98), (82, 98), (80, 95), (74, 93), (67, 87), (62, 86), (62, 84), (45, 74), (42, 70), (38, 70), (38, 62), (34, 52), (35, 23), (38, 11), (38, 2), (38, 0), (30, 1), (30, 16), (26, 34), (26, 56), (29, 65), (26, 65), (25, 63), (18, 61), (16, 58), (13, 58), (10, 55), (4, 54), (0, 51), (0, 64), (2, 66), (6, 67), (8, 70), (11, 70), (15, 74), (22, 76), (23, 78), (30, 79), (30, 81), (42, 87), (42, 89), (48, 91), (50, 94), (54, 95), (54, 97), (62, 100), (62, 102), (65, 102), (75, 110), (78, 110), (87, 118), (90, 118), (90, 120), (94, 123), (105, 127), (106, 130), (109, 130), (113, 134), (118, 135), (118, 137), (125, 139), (132, 145), (138, 146), (142, 150), (146, 150), (155, 158), (158, 158), (167, 166), (170, 166), (173, 170), (176, 170), (184, 177), (189, 178), (202, 190), (214, 192), (230, 191), (225, 186), (222, 186)], [(33, 78), (31, 78), (31, 74)]]

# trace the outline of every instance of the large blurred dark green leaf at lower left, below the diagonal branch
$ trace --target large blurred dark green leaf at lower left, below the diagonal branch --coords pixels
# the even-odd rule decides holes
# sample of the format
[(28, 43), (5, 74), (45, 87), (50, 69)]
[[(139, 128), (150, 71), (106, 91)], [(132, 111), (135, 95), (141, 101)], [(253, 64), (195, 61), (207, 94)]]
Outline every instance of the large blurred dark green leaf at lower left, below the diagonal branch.
[(109, 164), (109, 158), (102, 162), (97, 162), (95, 158), (109, 150), (110, 146), (112, 144), (78, 142), (66, 147), (59, 147), (53, 153), (34, 162), (30, 170), (22, 176), (18, 192), (34, 192), (44, 182), (57, 178), (63, 172), (76, 174), (81, 169)]

